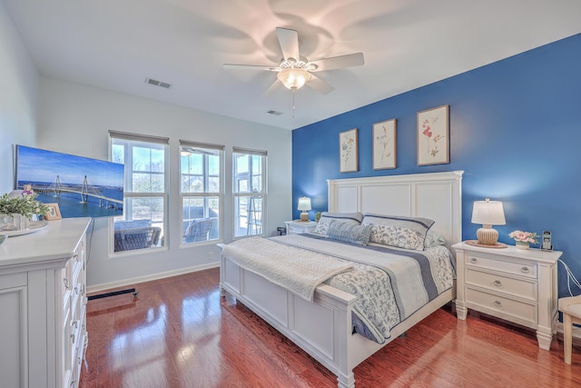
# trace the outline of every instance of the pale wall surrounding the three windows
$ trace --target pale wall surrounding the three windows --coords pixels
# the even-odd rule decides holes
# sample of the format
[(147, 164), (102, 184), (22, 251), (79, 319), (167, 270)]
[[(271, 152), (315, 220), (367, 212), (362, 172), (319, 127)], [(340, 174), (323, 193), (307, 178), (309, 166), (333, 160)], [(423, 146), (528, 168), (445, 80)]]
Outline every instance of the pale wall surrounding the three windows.
[(177, 174), (180, 139), (226, 147), (223, 224), (226, 243), (231, 242), (233, 229), (228, 216), (233, 208), (229, 194), (232, 146), (268, 152), (265, 230), (274, 234), (277, 226), (284, 226), (283, 222), (291, 219), (291, 131), (41, 77), (38, 147), (107, 160), (109, 130), (170, 138), (170, 244), (168, 249), (153, 252), (110, 255), (110, 221), (95, 219), (87, 267), (89, 291), (219, 264), (220, 250), (215, 244), (180, 247), (182, 228)]

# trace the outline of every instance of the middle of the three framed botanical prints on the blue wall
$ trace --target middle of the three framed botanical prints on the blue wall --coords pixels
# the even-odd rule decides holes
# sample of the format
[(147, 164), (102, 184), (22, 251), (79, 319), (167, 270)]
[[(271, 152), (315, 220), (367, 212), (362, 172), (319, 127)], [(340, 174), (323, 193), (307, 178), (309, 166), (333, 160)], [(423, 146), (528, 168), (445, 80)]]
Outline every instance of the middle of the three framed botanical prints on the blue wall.
[(397, 167), (397, 120), (373, 124), (373, 169), (385, 170)]

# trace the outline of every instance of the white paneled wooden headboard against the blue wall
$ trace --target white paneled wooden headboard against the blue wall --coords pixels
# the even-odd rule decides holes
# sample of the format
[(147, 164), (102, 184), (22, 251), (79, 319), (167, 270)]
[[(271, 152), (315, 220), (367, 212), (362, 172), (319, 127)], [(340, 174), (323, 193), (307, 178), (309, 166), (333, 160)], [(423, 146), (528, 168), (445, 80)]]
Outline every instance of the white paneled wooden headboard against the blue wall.
[(462, 241), (462, 174), (447, 173), (330, 179), (329, 211), (424, 217), (435, 221), (448, 248)]

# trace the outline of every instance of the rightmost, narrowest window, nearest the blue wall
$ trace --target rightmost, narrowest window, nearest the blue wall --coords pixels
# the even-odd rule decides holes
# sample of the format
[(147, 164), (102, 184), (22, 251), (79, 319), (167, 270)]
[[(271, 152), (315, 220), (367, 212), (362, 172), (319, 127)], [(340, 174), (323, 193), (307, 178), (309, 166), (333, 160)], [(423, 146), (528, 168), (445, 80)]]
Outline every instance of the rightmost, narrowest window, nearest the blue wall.
[(266, 152), (234, 148), (232, 164), (234, 237), (263, 234)]

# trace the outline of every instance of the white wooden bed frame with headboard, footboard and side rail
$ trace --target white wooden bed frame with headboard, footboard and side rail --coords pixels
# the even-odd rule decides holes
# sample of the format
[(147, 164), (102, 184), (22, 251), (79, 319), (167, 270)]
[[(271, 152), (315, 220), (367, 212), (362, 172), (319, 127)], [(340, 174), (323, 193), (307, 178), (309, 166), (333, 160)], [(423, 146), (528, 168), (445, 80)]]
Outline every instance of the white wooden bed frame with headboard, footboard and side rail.
[[(328, 181), (330, 212), (421, 216), (436, 223), (448, 248), (462, 239), (463, 171), (390, 175)], [(450, 250), (453, 252), (453, 250)], [(455, 287), (440, 294), (391, 330), (386, 343), (351, 333), (355, 296), (327, 284), (307, 302), (222, 255), (222, 296), (230, 293), (272, 327), (337, 375), (340, 388), (355, 387), (353, 368), (455, 297)]]

